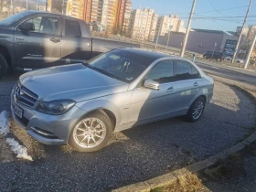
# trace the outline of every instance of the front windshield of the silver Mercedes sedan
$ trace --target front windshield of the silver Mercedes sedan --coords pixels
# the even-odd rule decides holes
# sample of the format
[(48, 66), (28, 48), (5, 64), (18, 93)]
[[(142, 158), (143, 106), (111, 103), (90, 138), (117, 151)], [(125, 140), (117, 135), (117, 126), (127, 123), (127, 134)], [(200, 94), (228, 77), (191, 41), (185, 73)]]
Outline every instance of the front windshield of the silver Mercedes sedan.
[(132, 82), (138, 78), (148, 65), (141, 63), (143, 59), (123, 50), (115, 49), (87, 62), (88, 67), (98, 70), (112, 78)]

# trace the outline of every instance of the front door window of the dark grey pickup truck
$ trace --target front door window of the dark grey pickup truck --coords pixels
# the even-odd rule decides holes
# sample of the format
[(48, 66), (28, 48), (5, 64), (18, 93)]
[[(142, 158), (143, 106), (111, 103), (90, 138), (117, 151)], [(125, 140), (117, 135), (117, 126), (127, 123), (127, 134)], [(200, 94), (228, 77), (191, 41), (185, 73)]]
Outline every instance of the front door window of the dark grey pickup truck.
[(26, 23), (35, 25), (35, 31), (33, 32), (58, 35), (59, 25), (57, 18), (37, 16), (27, 20)]

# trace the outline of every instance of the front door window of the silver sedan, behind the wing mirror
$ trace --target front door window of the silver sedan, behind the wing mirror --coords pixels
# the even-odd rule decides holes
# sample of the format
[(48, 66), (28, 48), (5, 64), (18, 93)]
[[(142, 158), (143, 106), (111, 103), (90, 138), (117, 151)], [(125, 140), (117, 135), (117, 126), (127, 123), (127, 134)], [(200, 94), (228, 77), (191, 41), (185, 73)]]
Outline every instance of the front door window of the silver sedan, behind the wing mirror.
[(174, 62), (163, 60), (155, 65), (147, 75), (147, 80), (155, 80), (158, 83), (172, 82), (174, 77)]

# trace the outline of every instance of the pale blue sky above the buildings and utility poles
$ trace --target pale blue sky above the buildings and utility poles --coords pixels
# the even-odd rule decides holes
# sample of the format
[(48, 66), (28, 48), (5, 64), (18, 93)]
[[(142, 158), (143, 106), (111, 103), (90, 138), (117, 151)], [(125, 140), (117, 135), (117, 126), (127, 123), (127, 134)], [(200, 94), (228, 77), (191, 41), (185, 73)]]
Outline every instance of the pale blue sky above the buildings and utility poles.
[[(133, 9), (141, 5), (155, 10), (160, 16), (170, 14), (178, 15), (185, 20), (191, 10), (193, 0), (132, 0)], [(250, 0), (197, 0), (192, 28), (215, 29), (224, 31), (236, 31), (242, 26)], [(229, 10), (222, 10), (229, 9)], [(256, 1), (252, 2), (251, 11), (246, 26), (256, 25)], [(230, 16), (240, 16), (232, 17)], [(214, 19), (213, 17), (217, 17)]]

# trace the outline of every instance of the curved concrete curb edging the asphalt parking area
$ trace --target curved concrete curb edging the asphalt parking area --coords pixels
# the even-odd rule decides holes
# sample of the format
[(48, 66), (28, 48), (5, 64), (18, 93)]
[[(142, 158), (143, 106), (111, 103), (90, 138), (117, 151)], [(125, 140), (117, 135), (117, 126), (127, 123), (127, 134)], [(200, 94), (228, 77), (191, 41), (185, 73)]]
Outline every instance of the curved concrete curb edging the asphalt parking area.
[[(235, 88), (237, 88), (240, 91), (247, 94), (253, 100), (253, 102), (256, 104), (256, 95), (254, 96), (253, 93), (251, 93), (251, 91), (247, 91), (238, 85), (231, 85), (231, 86), (234, 86)], [(241, 151), (247, 145), (250, 145), (254, 141), (256, 141), (256, 132), (252, 133), (251, 136), (249, 136), (244, 141), (242, 141), (239, 144), (236, 144), (234, 146), (231, 146), (229, 149), (224, 150), (224, 152), (219, 153), (218, 155), (210, 156), (206, 160), (197, 162), (196, 164), (193, 164), (193, 165), (188, 165), (184, 168), (170, 172), (163, 176), (157, 176), (155, 178), (152, 178), (152, 179), (149, 179), (149, 180), (146, 180), (143, 182), (139, 182), (136, 184), (132, 184), (130, 186), (114, 189), (114, 190), (112, 190), (112, 192), (134, 192), (134, 191), (150, 192), (150, 191), (155, 190), (160, 187), (169, 186), (169, 185), (175, 183), (180, 177), (195, 174), (204, 169), (207, 169), (209, 166), (215, 165), (220, 160), (225, 160), (226, 158), (229, 157), (229, 155), (232, 155), (232, 154), (235, 154), (235, 153)]]

